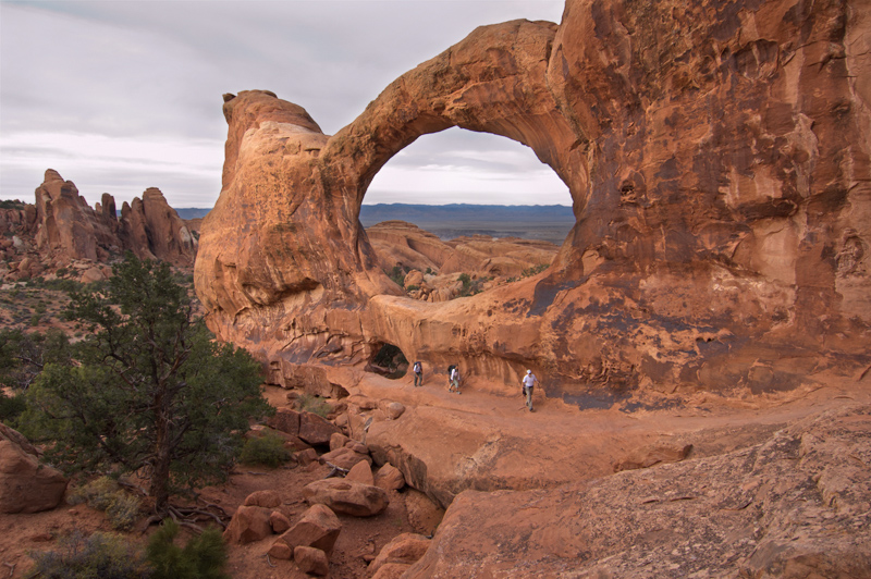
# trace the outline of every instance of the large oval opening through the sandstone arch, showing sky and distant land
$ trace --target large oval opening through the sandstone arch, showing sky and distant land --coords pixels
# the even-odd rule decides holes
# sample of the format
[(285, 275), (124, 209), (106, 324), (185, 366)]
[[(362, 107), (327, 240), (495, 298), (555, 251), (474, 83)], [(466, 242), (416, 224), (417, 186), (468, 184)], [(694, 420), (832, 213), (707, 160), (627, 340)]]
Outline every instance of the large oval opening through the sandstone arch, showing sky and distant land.
[(575, 224), (568, 187), (532, 149), (457, 127), (388, 161), (359, 219), (384, 273), (426, 301), (540, 273)]

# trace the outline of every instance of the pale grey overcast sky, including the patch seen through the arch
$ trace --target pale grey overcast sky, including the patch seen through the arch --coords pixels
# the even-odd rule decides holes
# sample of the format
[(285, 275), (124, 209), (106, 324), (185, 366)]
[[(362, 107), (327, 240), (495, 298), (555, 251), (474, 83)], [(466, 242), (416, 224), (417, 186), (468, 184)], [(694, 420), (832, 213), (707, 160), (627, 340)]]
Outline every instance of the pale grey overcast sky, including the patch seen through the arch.
[[(0, 198), (46, 169), (91, 205), (159, 187), (173, 207), (221, 188), (221, 95), (269, 89), (327, 134), (475, 27), (559, 23), (561, 0), (0, 0)], [(366, 204), (571, 205), (531, 149), (451, 128), (376, 176)]]

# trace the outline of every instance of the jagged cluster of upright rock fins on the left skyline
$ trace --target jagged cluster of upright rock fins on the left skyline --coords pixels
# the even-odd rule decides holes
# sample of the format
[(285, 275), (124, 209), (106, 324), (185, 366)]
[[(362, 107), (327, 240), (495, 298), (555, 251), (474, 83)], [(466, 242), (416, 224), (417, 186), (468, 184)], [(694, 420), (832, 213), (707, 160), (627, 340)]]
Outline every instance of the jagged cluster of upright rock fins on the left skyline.
[(124, 202), (119, 220), (111, 195), (90, 208), (75, 184), (52, 169), (36, 189), (36, 215), (28, 226), (39, 252), (61, 261), (105, 261), (130, 249), (142, 259), (192, 266), (197, 250), (197, 241), (159, 189), (147, 189), (132, 207)]

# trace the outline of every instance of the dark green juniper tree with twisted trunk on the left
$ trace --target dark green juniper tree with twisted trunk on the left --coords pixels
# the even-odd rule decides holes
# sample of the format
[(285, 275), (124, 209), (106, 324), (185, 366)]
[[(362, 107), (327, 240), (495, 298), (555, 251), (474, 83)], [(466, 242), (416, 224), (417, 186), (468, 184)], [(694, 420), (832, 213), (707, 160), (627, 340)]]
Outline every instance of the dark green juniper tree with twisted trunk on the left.
[(68, 470), (137, 472), (163, 513), (171, 493), (225, 479), (248, 420), (267, 414), (260, 365), (219, 344), (168, 264), (127, 254), (102, 291), (73, 293), (75, 365), (46, 365), (30, 431)]

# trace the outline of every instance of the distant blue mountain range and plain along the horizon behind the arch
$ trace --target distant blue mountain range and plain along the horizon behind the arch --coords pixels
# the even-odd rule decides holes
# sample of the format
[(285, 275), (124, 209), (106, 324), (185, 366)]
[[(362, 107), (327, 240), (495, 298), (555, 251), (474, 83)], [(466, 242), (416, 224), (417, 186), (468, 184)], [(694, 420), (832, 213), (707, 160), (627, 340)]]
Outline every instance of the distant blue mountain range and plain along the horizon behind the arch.
[[(206, 217), (210, 209), (186, 207), (175, 211), (182, 219), (196, 219)], [(575, 224), (575, 215), (572, 208), (564, 205), (377, 204), (360, 207), (364, 227), (382, 221), (407, 221), (442, 239), (480, 234), (562, 244)]]

